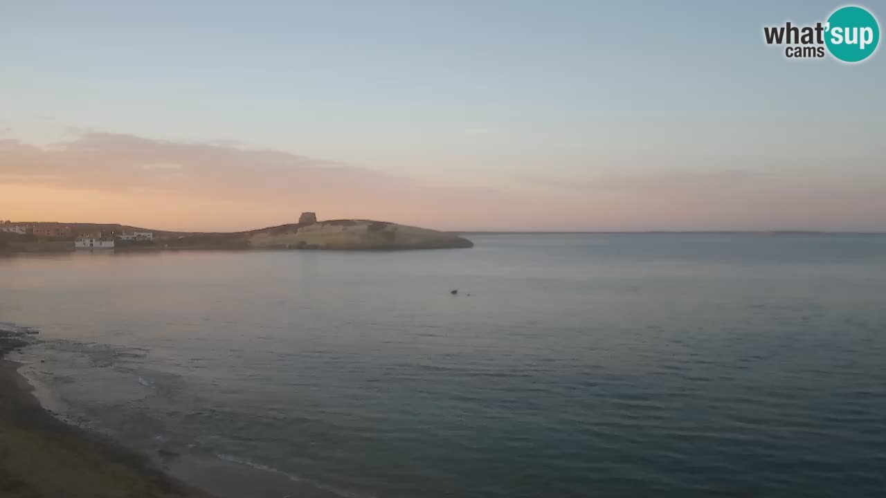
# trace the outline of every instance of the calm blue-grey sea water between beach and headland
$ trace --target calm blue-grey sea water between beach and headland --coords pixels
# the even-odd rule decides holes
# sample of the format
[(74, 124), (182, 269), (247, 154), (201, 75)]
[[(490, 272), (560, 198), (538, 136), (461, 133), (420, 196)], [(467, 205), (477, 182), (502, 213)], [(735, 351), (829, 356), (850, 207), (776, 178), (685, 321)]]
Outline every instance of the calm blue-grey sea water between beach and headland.
[(0, 321), (227, 496), (886, 494), (886, 237), (471, 238), (5, 258)]

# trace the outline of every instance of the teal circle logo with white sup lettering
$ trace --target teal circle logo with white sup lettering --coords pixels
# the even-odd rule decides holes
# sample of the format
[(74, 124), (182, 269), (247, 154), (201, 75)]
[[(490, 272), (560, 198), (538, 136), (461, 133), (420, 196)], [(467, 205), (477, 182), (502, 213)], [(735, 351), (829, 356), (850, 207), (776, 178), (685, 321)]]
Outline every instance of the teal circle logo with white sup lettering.
[(877, 50), (880, 26), (870, 12), (861, 7), (837, 9), (828, 18), (825, 44), (835, 58), (843, 62), (860, 62)]

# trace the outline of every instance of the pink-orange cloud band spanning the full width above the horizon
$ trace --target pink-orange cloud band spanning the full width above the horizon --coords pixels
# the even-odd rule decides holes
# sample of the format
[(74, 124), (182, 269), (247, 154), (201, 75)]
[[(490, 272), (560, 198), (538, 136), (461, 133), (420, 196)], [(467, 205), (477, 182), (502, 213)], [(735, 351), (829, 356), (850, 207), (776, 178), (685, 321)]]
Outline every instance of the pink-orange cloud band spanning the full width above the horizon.
[(50, 146), (0, 140), (0, 211), (106, 219), (127, 206), (133, 224), (193, 230), (300, 211), (448, 230), (886, 230), (886, 171), (865, 161), (668, 164), (583, 179), (540, 167), (469, 188), (288, 152), (92, 133)]

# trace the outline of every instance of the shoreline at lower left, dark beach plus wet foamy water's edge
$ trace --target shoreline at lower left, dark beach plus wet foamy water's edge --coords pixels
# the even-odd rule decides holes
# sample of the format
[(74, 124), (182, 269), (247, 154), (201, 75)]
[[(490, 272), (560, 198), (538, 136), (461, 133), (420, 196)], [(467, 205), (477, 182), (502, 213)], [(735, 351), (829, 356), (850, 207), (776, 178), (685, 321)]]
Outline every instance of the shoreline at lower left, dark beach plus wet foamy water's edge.
[(0, 323), (0, 497), (358, 496), (224, 452), (206, 457), (161, 447), (155, 454), (126, 445), (71, 413), (67, 401), (34, 376), (45, 369), (39, 357), (23, 351), (29, 360), (10, 358), (35, 346), (28, 336), (36, 333)]

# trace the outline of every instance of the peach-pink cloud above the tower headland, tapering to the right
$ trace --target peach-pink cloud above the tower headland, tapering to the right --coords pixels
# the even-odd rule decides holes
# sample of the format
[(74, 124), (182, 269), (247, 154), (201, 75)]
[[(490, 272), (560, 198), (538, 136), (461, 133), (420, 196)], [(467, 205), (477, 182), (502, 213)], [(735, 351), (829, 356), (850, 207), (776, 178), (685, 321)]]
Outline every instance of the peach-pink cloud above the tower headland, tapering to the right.
[[(478, 210), (511, 203), (494, 189), (423, 183), (288, 152), (99, 133), (45, 147), (0, 140), (0, 183), (240, 203), (268, 222), (291, 222), (311, 210), (455, 228)], [(83, 204), (94, 197), (81, 198)], [(441, 223), (447, 218), (452, 224)]]

